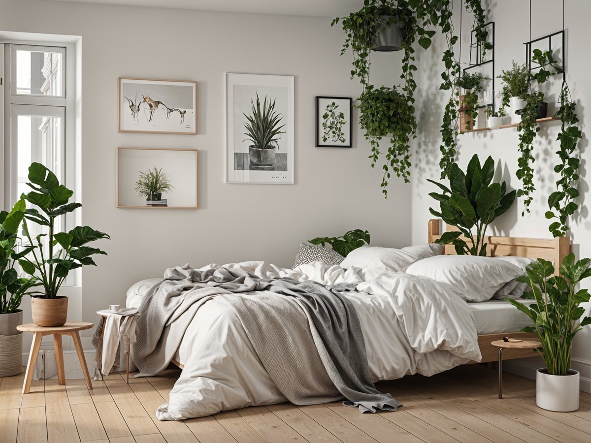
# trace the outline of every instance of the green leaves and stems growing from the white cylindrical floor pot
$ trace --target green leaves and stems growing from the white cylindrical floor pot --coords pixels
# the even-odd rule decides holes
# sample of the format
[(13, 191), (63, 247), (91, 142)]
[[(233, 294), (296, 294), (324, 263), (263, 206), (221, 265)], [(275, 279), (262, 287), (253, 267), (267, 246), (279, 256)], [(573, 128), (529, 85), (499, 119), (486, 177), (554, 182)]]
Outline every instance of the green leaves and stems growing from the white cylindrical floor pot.
[(591, 317), (583, 317), (585, 310), (580, 306), (589, 302), (589, 292), (576, 289), (579, 282), (591, 276), (590, 264), (591, 259), (575, 262), (574, 254), (570, 253), (560, 266), (561, 276), (552, 276), (552, 262), (538, 259), (525, 270), (527, 276), (518, 278), (530, 284), (532, 291), (524, 294), (524, 298), (535, 299), (535, 304), (525, 305), (505, 298), (534, 323), (522, 331), (535, 333), (540, 338), (541, 356), (549, 374), (569, 374), (573, 338), (584, 325), (591, 324)]

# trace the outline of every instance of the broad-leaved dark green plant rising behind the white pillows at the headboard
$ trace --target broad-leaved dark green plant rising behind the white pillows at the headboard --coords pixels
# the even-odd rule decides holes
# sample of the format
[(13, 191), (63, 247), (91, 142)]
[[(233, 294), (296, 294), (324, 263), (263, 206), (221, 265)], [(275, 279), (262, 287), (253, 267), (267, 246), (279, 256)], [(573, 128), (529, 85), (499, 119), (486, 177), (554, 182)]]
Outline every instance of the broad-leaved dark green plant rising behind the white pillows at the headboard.
[(444, 233), (436, 243), (452, 244), (460, 255), (486, 255), (486, 228), (511, 207), (516, 193), (507, 193), (505, 182), (491, 183), (494, 174), (495, 161), (492, 157), (489, 156), (481, 166), (478, 155), (474, 155), (466, 172), (460, 170), (456, 163), (452, 164), (449, 187), (428, 180), (443, 191), (443, 194), (429, 194), (440, 205), (439, 211), (429, 208), (431, 214), (458, 229)]

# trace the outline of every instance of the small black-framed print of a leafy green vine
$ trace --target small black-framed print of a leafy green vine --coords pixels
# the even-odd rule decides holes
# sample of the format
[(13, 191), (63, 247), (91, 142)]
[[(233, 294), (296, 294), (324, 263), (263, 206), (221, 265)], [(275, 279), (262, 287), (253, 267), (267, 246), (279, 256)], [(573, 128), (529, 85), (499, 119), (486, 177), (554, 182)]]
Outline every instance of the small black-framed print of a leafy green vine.
[(316, 97), (316, 147), (351, 147), (352, 97)]

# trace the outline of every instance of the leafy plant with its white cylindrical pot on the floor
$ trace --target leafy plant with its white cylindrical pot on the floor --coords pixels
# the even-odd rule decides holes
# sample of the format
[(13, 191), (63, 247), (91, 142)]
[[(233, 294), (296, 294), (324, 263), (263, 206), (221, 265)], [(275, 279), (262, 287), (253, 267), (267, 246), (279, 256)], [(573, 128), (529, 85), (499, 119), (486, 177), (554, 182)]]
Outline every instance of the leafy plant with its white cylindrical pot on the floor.
[[(567, 255), (554, 275), (554, 265), (538, 259), (525, 270), (527, 275), (518, 281), (531, 286), (531, 292), (524, 298), (535, 299), (535, 304), (523, 303), (505, 298), (519, 311), (531, 318), (533, 326), (522, 329), (540, 338), (538, 349), (545, 367), (536, 373), (535, 403), (548, 411), (568, 412), (579, 409), (579, 372), (570, 367), (573, 338), (584, 325), (591, 324), (591, 317), (583, 317), (580, 305), (589, 302), (587, 289), (576, 286), (591, 276), (591, 259), (574, 260), (574, 254)], [(583, 317), (583, 320), (580, 320)]]

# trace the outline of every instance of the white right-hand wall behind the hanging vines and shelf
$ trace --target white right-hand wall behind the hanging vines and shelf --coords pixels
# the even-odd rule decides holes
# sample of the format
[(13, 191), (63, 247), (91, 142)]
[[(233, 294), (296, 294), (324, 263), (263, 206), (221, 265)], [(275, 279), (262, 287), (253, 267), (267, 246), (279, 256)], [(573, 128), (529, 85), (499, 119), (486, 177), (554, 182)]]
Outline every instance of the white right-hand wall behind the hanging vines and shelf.
[[(496, 75), (502, 69), (509, 69), (511, 61), (518, 63), (525, 61), (525, 48), (523, 43), (530, 40), (529, 35), (529, 2), (527, 1), (492, 1), (489, 3), (491, 11), (489, 18), (496, 24)], [(457, 5), (459, 6), (459, 5)], [(552, 0), (534, 0), (532, 2), (532, 38), (542, 37), (551, 32), (560, 31), (562, 2)], [(591, 102), (591, 89), (589, 87), (589, 59), (586, 57), (589, 41), (589, 24), (587, 17), (591, 15), (591, 3), (589, 2), (566, 2), (565, 27), (567, 29), (566, 43), (566, 70), (567, 82), (570, 90), (576, 97), (578, 106), (577, 112), (581, 120), (580, 127), (583, 134), (591, 124), (591, 115), (587, 112), (586, 104)], [(456, 30), (459, 31), (459, 21), (456, 14)], [(467, 24), (467, 25), (466, 25)], [(467, 63), (469, 57), (469, 29), (472, 24), (472, 17), (465, 13), (463, 15), (463, 47), (462, 62)], [(448, 99), (448, 95), (441, 93), (439, 88), (440, 72), (443, 70), (441, 63), (434, 63), (440, 60), (443, 51), (443, 40), (439, 38), (434, 42), (433, 47), (425, 53), (422, 49), (418, 52), (418, 73), (417, 79), (419, 99), (418, 105), (418, 138), (414, 145), (414, 175), (418, 180), (413, 181), (412, 187), (412, 238), (413, 243), (424, 242), (427, 235), (427, 220), (433, 218), (428, 208), (435, 203), (427, 194), (436, 190), (434, 185), (427, 183), (427, 178), (439, 180), (439, 145), (441, 136), (439, 128), (441, 116)], [(467, 66), (467, 65), (465, 65)], [(488, 73), (488, 71), (485, 71)], [(490, 74), (488, 73), (488, 76)], [(560, 92), (561, 79), (554, 80), (551, 84), (549, 112), (556, 109), (556, 101)], [(501, 80), (497, 80), (497, 89), (500, 89)], [(522, 199), (519, 198), (511, 210), (492, 226), (490, 233), (502, 236), (542, 237), (551, 238), (547, 230), (548, 220), (544, 218), (547, 210), (547, 198), (555, 190), (554, 182), (557, 180), (553, 165), (556, 164), (557, 156), (554, 154), (558, 149), (556, 135), (560, 129), (560, 122), (547, 123), (541, 126), (541, 131), (535, 141), (535, 187), (534, 201), (531, 206), (531, 215), (521, 217)], [(481, 161), (488, 155), (497, 161), (497, 174), (495, 180), (506, 180), (509, 188), (518, 188), (519, 181), (514, 175), (517, 170), (518, 159), (518, 132), (516, 129), (502, 129), (490, 132), (467, 133), (459, 136), (458, 162), (460, 167), (465, 167), (470, 157), (478, 154)], [(589, 141), (586, 136), (579, 144), (581, 158), (582, 179), (579, 181), (579, 190), (582, 193), (589, 191), (589, 182), (586, 178), (588, 161), (590, 157)], [(421, 159), (420, 162), (417, 159)], [(574, 220), (571, 220), (571, 234), (573, 239), (573, 251), (579, 257), (591, 256), (591, 223), (589, 216), (587, 196), (579, 201), (582, 210)], [(437, 206), (434, 206), (437, 207)], [(586, 282), (589, 286), (591, 282)], [(589, 307), (587, 307), (589, 308)], [(589, 315), (589, 309), (587, 309)], [(573, 351), (573, 367), (580, 370), (584, 379), (582, 386), (586, 390), (591, 389), (591, 328), (586, 327), (577, 335)], [(519, 360), (523, 363), (524, 360)], [(540, 362), (531, 362), (530, 367), (540, 367)], [(530, 372), (531, 374), (531, 372)]]

